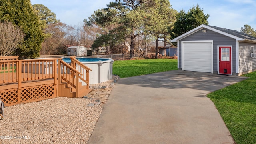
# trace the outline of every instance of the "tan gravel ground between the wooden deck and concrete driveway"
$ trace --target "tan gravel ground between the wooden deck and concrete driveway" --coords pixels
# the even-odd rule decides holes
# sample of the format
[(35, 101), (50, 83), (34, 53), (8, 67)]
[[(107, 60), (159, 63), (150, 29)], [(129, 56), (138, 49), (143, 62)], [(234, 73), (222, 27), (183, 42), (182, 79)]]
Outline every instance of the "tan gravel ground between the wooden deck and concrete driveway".
[(86, 144), (105, 104), (89, 103), (92, 100), (86, 98), (58, 97), (6, 107), (0, 120), (0, 143)]

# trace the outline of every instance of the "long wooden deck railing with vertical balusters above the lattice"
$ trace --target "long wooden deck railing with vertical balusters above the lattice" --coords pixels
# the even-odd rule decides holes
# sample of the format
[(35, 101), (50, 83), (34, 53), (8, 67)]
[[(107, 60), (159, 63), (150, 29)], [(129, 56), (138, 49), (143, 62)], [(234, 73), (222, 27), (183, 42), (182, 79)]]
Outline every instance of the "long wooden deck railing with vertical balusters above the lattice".
[(54, 78), (57, 59), (2, 60), (0, 84)]

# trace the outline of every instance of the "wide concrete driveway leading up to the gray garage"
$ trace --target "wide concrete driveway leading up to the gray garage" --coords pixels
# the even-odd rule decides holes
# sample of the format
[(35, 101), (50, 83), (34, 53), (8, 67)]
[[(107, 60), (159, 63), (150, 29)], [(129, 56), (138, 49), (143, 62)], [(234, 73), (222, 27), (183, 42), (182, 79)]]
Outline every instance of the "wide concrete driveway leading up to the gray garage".
[(244, 79), (180, 70), (122, 78), (88, 144), (233, 144), (206, 94)]

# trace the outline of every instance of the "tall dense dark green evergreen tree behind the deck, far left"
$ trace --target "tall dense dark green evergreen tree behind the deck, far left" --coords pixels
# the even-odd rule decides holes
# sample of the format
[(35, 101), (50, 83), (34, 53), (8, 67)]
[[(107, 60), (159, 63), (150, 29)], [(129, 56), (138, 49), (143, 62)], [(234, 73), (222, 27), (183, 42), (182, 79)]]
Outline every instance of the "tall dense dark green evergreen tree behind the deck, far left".
[(44, 41), (42, 23), (32, 8), (30, 0), (1, 0), (0, 21), (12, 22), (24, 32), (24, 42), (15, 51), (20, 58), (36, 58), (39, 56)]

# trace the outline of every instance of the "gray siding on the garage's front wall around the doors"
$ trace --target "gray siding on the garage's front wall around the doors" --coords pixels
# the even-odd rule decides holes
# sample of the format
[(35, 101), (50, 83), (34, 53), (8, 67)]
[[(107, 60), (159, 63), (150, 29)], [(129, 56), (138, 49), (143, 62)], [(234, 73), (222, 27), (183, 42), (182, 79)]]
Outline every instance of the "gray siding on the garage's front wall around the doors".
[[(203, 33), (202, 30), (206, 30), (206, 33)], [(196, 41), (196, 40), (213, 40), (213, 71), (214, 73), (218, 72), (218, 46), (232, 46), (232, 61), (233, 61), (233, 72), (236, 73), (236, 40), (228, 36), (224, 36), (212, 30), (206, 28), (187, 36), (179, 40), (179, 68), (181, 68), (181, 42), (182, 41)], [(256, 47), (255, 47), (256, 48)]]

